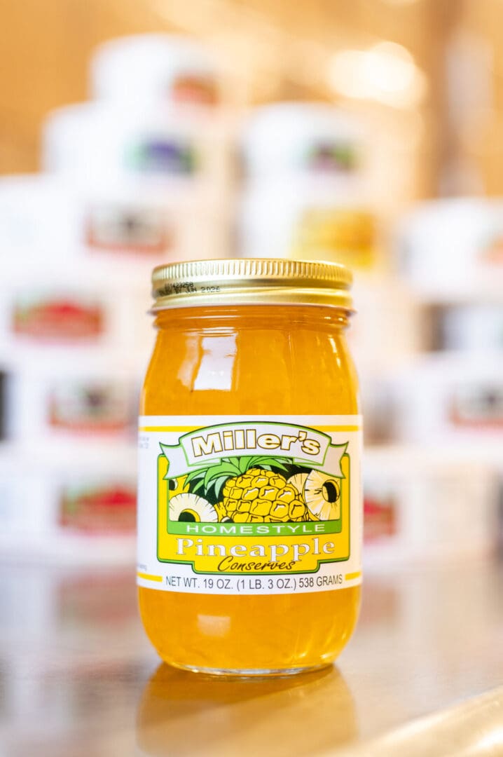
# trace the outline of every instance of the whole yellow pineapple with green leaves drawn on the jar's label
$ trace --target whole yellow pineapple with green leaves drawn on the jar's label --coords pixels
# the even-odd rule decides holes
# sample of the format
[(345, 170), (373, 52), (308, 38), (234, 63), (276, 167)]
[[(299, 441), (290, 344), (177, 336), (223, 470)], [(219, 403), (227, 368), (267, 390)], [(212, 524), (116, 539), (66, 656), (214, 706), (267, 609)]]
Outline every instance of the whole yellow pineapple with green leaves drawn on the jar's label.
[(265, 456), (228, 457), (207, 469), (189, 473), (195, 493), (208, 497), (213, 488), (219, 500), (216, 512), (220, 520), (234, 523), (304, 521), (308, 509), (299, 491), (284, 475), (272, 471), (286, 468), (278, 459)]

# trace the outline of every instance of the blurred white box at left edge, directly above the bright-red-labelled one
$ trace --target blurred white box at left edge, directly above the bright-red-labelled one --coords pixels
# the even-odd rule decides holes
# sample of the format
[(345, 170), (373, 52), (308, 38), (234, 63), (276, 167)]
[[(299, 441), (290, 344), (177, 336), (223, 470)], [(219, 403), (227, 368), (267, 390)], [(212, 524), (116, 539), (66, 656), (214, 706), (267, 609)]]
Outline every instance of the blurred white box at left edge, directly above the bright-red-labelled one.
[(117, 276), (129, 266), (134, 279), (137, 260), (148, 270), (163, 260), (225, 257), (228, 213), (221, 198), (200, 187), (139, 188), (110, 176), (77, 186), (64, 176), (9, 176), (0, 179), (2, 280), (26, 260), (57, 272), (64, 261), (92, 255), (110, 261)]

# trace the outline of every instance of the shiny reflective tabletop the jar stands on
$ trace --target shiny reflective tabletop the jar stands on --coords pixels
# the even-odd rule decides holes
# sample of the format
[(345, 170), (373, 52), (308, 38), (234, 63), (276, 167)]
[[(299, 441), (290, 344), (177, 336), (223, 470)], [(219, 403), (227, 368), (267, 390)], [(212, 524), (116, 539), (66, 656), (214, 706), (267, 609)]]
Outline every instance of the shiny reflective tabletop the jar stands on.
[(503, 681), (497, 562), (367, 575), (337, 667), (259, 681), (160, 665), (133, 570), (0, 576), (2, 757), (337, 755)]

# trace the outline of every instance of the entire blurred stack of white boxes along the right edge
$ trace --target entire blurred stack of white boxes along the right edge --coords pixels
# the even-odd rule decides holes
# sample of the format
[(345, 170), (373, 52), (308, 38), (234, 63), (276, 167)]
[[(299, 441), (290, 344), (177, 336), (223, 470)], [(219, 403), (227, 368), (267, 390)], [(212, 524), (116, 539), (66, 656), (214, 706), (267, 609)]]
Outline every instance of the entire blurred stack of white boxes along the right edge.
[(497, 547), (501, 232), (503, 205), (483, 198), (425, 203), (399, 230), (399, 269), (430, 328), (416, 345), (422, 342), (423, 350), (393, 366), (385, 380), (397, 444), (367, 456), (366, 556), (372, 565), (472, 559)]

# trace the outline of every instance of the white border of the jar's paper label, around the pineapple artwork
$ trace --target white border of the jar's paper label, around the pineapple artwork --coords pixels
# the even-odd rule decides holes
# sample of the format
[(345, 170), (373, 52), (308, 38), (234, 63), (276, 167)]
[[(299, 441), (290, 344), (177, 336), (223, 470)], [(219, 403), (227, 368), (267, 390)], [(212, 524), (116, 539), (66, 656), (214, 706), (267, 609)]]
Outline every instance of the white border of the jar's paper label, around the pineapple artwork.
[[(222, 423), (238, 424), (240, 422), (291, 423), (314, 430), (321, 427), (325, 434), (331, 436), (333, 444), (349, 442), (347, 448), (351, 458), (349, 559), (340, 562), (322, 562), (318, 572), (315, 573), (291, 575), (272, 572), (260, 575), (255, 573), (228, 575), (225, 572), (222, 572), (222, 575), (204, 574), (194, 572), (191, 565), (166, 563), (157, 559), (157, 458), (160, 454), (160, 443), (178, 444), (179, 437), (186, 433), (186, 431), (160, 431), (158, 429), (172, 426), (207, 428)], [(327, 426), (342, 426), (344, 430), (327, 431), (325, 428)], [(344, 589), (360, 584), (362, 581), (361, 426), (361, 416), (141, 416), (138, 436), (138, 585), (148, 589), (187, 593), (281, 594)], [(346, 427), (351, 430), (346, 430)], [(355, 427), (360, 430), (352, 430)], [(263, 454), (275, 456), (275, 450), (264, 450)], [(232, 455), (233, 453), (230, 452), (229, 456)], [(244, 537), (244, 539), (249, 538)], [(260, 537), (256, 538), (260, 539)], [(332, 577), (338, 577), (336, 579), (338, 582), (333, 583)]]

